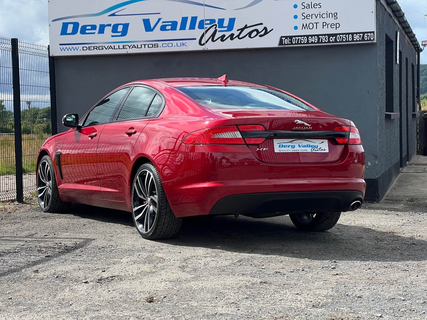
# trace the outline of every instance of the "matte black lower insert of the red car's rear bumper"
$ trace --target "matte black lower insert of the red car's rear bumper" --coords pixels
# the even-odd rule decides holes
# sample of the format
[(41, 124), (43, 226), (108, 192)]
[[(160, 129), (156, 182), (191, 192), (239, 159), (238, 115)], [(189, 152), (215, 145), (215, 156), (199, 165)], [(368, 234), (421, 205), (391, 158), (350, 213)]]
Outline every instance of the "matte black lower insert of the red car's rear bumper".
[(271, 192), (230, 195), (219, 200), (210, 214), (262, 214), (274, 212), (348, 211), (363, 201), (359, 191)]

